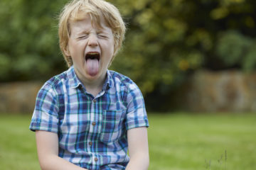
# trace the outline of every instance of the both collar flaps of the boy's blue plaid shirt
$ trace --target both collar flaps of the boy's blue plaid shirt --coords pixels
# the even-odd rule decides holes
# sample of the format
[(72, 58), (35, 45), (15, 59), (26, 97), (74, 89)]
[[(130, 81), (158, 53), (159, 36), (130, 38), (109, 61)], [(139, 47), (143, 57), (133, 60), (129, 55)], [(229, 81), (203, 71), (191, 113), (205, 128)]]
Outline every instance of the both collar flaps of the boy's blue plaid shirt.
[[(78, 88), (79, 86), (82, 86), (81, 81), (78, 79), (78, 76), (75, 74), (75, 69), (73, 66), (71, 66), (67, 71), (68, 79), (70, 81), (70, 87), (71, 88)], [(110, 70), (107, 69), (107, 77), (105, 79), (105, 82), (102, 86), (102, 89), (104, 91), (107, 91), (113, 86), (114, 82), (112, 79), (112, 76), (110, 74)]]

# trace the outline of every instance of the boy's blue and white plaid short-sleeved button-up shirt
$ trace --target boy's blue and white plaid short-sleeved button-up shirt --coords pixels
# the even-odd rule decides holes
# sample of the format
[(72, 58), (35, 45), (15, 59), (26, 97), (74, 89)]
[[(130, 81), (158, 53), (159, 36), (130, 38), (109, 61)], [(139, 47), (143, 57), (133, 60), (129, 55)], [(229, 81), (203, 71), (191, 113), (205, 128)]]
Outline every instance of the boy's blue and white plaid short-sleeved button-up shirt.
[(107, 170), (127, 166), (127, 130), (148, 126), (143, 96), (132, 80), (107, 70), (94, 97), (70, 67), (38, 92), (29, 128), (58, 133), (59, 157), (85, 169)]

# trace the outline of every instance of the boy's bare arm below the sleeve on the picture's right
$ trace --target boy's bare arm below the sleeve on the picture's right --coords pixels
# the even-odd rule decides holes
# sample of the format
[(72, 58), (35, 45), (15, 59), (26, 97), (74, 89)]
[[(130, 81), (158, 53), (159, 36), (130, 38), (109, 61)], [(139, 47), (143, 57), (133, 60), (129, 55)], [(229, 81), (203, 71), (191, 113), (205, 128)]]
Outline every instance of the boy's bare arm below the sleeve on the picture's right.
[(149, 146), (146, 127), (127, 131), (130, 160), (126, 170), (146, 170), (149, 167)]

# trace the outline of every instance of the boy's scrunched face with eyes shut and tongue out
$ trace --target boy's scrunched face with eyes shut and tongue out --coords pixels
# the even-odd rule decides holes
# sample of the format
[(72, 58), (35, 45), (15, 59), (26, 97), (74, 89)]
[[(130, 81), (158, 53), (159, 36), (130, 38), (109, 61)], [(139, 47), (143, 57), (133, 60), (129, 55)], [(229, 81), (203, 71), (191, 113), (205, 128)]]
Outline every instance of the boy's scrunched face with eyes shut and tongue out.
[(89, 15), (82, 21), (70, 23), (68, 51), (78, 78), (85, 82), (105, 79), (107, 67), (114, 54), (114, 36), (102, 19), (102, 28), (91, 22)]

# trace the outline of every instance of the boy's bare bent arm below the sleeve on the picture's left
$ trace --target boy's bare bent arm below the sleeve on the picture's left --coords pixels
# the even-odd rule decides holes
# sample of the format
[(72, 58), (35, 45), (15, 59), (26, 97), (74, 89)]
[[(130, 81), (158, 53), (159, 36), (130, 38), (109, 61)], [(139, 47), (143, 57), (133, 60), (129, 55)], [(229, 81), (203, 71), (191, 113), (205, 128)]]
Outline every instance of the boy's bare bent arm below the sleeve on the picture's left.
[(81, 167), (58, 157), (58, 135), (56, 133), (37, 130), (36, 145), (42, 170), (82, 170)]

